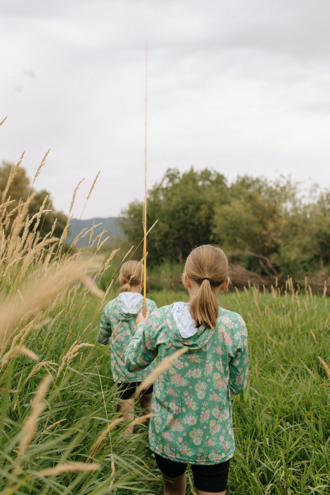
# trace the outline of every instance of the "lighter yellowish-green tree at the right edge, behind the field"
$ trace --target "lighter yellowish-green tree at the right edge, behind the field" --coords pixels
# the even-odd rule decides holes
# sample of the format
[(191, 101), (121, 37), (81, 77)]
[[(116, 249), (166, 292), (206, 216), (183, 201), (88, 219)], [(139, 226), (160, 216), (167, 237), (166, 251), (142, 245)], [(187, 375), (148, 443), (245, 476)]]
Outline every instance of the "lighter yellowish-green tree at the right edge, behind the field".
[(290, 179), (244, 176), (230, 197), (215, 208), (213, 233), (234, 261), (253, 271), (298, 276), (329, 263), (329, 193), (315, 200)]

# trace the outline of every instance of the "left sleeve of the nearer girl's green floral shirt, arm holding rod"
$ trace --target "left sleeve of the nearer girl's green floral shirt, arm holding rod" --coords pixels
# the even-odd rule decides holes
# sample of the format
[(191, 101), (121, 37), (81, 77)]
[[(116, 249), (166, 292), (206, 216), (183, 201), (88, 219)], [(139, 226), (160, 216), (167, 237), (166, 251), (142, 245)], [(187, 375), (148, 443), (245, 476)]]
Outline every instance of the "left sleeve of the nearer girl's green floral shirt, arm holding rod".
[(125, 366), (131, 373), (146, 368), (158, 354), (158, 348), (153, 343), (151, 327), (146, 326), (148, 323), (150, 325), (149, 318), (146, 322), (139, 323), (126, 347)]

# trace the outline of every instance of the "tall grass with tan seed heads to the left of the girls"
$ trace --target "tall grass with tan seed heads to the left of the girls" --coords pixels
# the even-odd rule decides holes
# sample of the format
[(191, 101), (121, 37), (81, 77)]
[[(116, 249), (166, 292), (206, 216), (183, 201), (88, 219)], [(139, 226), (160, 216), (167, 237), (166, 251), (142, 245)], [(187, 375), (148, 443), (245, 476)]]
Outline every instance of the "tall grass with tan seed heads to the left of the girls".
[(40, 239), (27, 216), (31, 198), (8, 212), (7, 192), (0, 205), (1, 494), (151, 493), (159, 474), (143, 424), (123, 438), (119, 421), (97, 442), (119, 418), (108, 348), (95, 343), (111, 297), (97, 280), (111, 256), (98, 258), (101, 237), (93, 256), (63, 254), (69, 223), (60, 239), (53, 232)]

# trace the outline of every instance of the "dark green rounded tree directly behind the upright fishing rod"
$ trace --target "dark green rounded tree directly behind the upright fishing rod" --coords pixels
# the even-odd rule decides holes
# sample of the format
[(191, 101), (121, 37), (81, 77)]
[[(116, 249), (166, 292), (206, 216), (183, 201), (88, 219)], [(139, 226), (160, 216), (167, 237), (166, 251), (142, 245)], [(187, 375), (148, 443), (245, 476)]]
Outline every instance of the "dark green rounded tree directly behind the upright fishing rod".
[[(192, 247), (213, 241), (213, 215), (216, 204), (229, 200), (228, 186), (222, 174), (190, 168), (181, 174), (168, 169), (159, 184), (148, 193), (147, 250), (150, 263), (164, 260), (183, 262)], [(137, 246), (143, 237), (142, 203), (134, 201), (122, 211), (120, 226)]]

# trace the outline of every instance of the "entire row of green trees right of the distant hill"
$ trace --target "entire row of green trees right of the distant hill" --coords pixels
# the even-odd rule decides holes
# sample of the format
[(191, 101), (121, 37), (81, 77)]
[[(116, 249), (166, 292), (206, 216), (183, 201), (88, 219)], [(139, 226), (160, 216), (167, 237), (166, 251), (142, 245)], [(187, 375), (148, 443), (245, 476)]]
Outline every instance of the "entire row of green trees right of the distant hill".
[[(228, 185), (213, 170), (168, 169), (148, 192), (148, 262), (182, 263), (192, 247), (216, 244), (233, 262), (268, 275), (315, 272), (330, 264), (330, 192), (280, 177), (238, 176)], [(122, 211), (130, 243), (143, 237), (142, 202)]]

